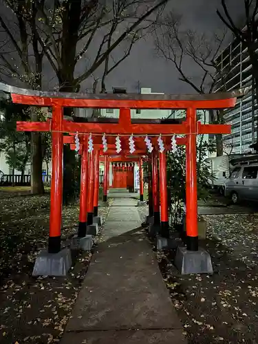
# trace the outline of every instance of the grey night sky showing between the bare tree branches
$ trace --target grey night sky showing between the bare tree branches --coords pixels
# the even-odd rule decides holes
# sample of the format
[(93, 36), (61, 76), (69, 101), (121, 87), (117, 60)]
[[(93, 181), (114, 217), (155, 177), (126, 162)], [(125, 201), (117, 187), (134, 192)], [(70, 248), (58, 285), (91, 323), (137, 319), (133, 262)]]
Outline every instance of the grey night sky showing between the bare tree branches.
[[(211, 32), (222, 32), (224, 25), (216, 14), (221, 0), (170, 0), (166, 12), (171, 10), (177, 14), (183, 14), (182, 24), (184, 29), (197, 30), (209, 34)], [(228, 8), (234, 19), (239, 21), (243, 17), (244, 0), (228, 0)], [(1, 7), (1, 10), (4, 8)], [(6, 14), (6, 16), (10, 16)], [(3, 33), (0, 32), (0, 38)], [(228, 36), (228, 43), (230, 41)], [(98, 45), (98, 44), (96, 44)], [(98, 47), (97, 47), (98, 48)], [(96, 48), (96, 49), (97, 49)], [(95, 47), (94, 47), (95, 50)], [(96, 53), (96, 51), (94, 51)], [(118, 52), (116, 52), (118, 54)], [(87, 60), (81, 58), (79, 68), (85, 69)], [(197, 74), (195, 63), (187, 63), (187, 75)], [(101, 75), (101, 70), (95, 72), (94, 77)], [(112, 87), (126, 87), (127, 92), (138, 92), (140, 87), (151, 87), (153, 92), (164, 92), (167, 94), (194, 93), (193, 89), (186, 83), (178, 80), (178, 72), (173, 63), (165, 61), (157, 56), (154, 50), (151, 36), (147, 40), (139, 41), (133, 46), (130, 56), (122, 62), (117, 69), (109, 74), (106, 80), (107, 90), (111, 92)], [(7, 81), (7, 80), (6, 80)], [(10, 81), (10, 82), (9, 82)], [(12, 79), (8, 83), (15, 85)], [(87, 87), (92, 87), (94, 79), (88, 78), (81, 84), (80, 92), (86, 92)], [(45, 63), (43, 70), (43, 89), (50, 90), (58, 87), (56, 78), (49, 63)]]

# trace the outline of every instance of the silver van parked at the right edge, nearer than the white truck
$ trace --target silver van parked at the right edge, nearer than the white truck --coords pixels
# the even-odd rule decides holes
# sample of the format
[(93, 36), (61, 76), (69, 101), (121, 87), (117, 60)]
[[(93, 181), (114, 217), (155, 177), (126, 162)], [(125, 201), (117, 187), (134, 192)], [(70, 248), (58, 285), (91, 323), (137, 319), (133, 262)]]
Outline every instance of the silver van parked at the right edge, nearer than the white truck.
[(237, 204), (239, 200), (258, 201), (258, 162), (239, 162), (225, 183), (225, 196)]

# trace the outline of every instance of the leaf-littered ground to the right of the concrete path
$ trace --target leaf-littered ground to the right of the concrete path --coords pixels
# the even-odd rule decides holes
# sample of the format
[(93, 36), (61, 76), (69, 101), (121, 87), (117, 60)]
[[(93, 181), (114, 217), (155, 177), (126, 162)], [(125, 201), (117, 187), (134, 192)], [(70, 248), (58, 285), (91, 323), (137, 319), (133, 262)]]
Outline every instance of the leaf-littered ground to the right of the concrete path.
[[(142, 220), (143, 209), (139, 210)], [(180, 275), (175, 250), (155, 252), (189, 344), (258, 343), (258, 217), (206, 215), (213, 275)]]

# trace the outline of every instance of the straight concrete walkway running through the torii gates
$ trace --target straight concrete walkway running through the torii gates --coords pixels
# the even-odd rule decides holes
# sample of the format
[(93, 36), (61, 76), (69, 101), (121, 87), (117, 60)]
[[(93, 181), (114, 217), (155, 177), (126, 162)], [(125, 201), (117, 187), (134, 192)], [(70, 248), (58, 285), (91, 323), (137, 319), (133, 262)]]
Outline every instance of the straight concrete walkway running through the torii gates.
[(186, 343), (136, 203), (114, 200), (62, 344)]

